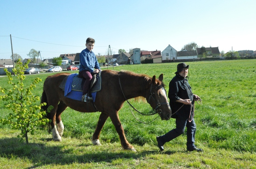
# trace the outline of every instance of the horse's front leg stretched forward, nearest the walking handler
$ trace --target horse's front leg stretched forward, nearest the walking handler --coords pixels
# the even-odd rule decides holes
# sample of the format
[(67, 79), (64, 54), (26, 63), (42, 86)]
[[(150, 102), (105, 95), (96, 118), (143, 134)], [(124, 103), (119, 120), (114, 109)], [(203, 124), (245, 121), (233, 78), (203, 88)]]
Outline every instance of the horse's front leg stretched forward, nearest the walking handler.
[(125, 132), (124, 132), (124, 128), (120, 122), (119, 116), (118, 116), (118, 112), (116, 111), (115, 113), (113, 113), (112, 115), (109, 116), (112, 123), (114, 124), (116, 131), (119, 135), (120, 141), (121, 141), (121, 145), (123, 147), (123, 149), (125, 150), (131, 150), (131, 151), (136, 151), (134, 149), (134, 147), (132, 145), (130, 145), (130, 143), (127, 141), (126, 137), (125, 137)]

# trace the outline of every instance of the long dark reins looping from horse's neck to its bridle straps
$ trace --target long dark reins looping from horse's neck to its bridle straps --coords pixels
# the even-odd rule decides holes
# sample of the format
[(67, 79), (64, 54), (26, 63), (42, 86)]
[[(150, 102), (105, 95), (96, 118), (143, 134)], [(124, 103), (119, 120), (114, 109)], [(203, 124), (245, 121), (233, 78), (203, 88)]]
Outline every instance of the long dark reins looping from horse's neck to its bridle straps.
[[(138, 113), (140, 113), (140, 114), (142, 114), (142, 115), (150, 116), (150, 115), (154, 115), (154, 114), (157, 114), (157, 113), (158, 113), (158, 116), (157, 116), (157, 117), (159, 117), (159, 114), (162, 113), (162, 110), (159, 109), (159, 106), (161, 106), (161, 105), (167, 105), (167, 104), (169, 104), (169, 103), (168, 103), (168, 102), (165, 102), (165, 103), (159, 103), (159, 102), (158, 102), (158, 103), (157, 103), (157, 106), (156, 106), (156, 108), (155, 108), (155, 110), (154, 110), (155, 112), (152, 113), (152, 114), (144, 114), (144, 113), (139, 112), (139, 111), (138, 111), (136, 108), (134, 108), (134, 107), (130, 104), (130, 102), (126, 99), (125, 94), (124, 94), (123, 89), (122, 89), (122, 85), (121, 85), (119, 73), (120, 73), (120, 72), (118, 72), (119, 85), (120, 85), (121, 91), (122, 91), (122, 93), (123, 93), (123, 96), (124, 96), (125, 100), (126, 100), (127, 103), (128, 103), (129, 109), (130, 109), (130, 111), (131, 111), (133, 117), (136, 118), (135, 115), (133, 114), (133, 112), (132, 112), (130, 106), (131, 106), (135, 111), (137, 111)], [(159, 86), (162, 86), (162, 85), (159, 85)], [(156, 87), (159, 87), (159, 86), (156, 86)], [(150, 95), (148, 96), (147, 102), (150, 101), (151, 97), (155, 100), (155, 98), (154, 98), (155, 96), (153, 96), (153, 94), (155, 94), (155, 93), (152, 92), (152, 87), (153, 87), (153, 84), (151, 83)], [(154, 88), (156, 88), (156, 87), (154, 87)], [(158, 110), (160, 110), (160, 112), (159, 112)], [(156, 117), (156, 118), (157, 118), (157, 117)], [(155, 118), (155, 119), (156, 119), (156, 118)], [(155, 119), (153, 119), (152, 121), (154, 121)], [(136, 120), (140, 121), (138, 118), (136, 118)], [(144, 124), (148, 124), (148, 123), (151, 123), (152, 121), (147, 122), (147, 123), (145, 123), (145, 122), (143, 122), (143, 121), (140, 121), (140, 122), (141, 122), (141, 123), (144, 123)]]

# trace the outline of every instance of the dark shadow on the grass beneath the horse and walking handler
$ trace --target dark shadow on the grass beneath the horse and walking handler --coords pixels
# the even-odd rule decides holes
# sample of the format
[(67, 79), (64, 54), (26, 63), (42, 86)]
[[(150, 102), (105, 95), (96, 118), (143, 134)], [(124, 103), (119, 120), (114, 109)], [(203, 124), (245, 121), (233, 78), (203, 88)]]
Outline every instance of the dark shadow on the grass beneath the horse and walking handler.
[[(52, 138), (42, 138), (45, 143), (52, 141)], [(137, 153), (131, 153), (130, 151), (117, 151), (117, 152), (109, 152), (109, 151), (90, 151), (84, 152), (81, 155), (74, 153), (73, 150), (75, 148), (66, 149), (66, 145), (58, 144), (57, 146), (46, 146), (44, 143), (35, 144), (29, 143), (27, 145), (24, 142), (20, 142), (20, 138), (4, 138), (0, 139), (0, 156), (11, 158), (13, 155), (21, 158), (21, 159), (29, 159), (34, 166), (29, 168), (37, 168), (44, 165), (58, 164), (58, 165), (66, 165), (72, 163), (100, 163), (106, 162), (111, 163), (112, 159), (115, 158), (134, 158), (138, 159), (140, 157), (145, 157), (149, 154), (173, 154), (175, 151), (165, 151), (160, 152), (158, 150), (148, 150), (148, 151), (140, 151)], [(80, 144), (78, 147), (88, 147), (92, 146), (91, 144)], [(103, 145), (104, 146), (104, 145)], [(107, 148), (107, 147), (106, 147)], [(95, 148), (97, 149), (97, 148)], [(42, 159), (43, 156), (43, 159)], [(27, 168), (27, 169), (29, 169)]]

